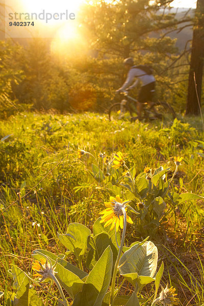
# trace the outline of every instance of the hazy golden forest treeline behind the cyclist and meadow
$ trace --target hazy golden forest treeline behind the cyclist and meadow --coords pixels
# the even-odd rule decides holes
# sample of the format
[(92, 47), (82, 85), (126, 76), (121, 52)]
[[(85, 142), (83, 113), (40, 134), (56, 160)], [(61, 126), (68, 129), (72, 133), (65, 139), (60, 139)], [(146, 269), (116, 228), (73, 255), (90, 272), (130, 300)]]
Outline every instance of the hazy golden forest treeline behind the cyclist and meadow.
[(183, 112), (191, 45), (187, 41), (179, 50), (172, 36), (190, 31), (193, 16), (192, 11), (172, 12), (170, 2), (152, 5), (147, 0), (124, 0), (115, 5), (103, 1), (84, 5), (78, 18), (78, 40), (85, 41), (85, 49), (84, 45), (76, 47), (76, 41), (57, 52), (58, 45), (52, 48), (50, 39), (33, 38), (25, 45), (2, 40), (1, 117), (22, 110), (104, 112), (124, 81), (122, 61), (129, 56), (136, 64), (154, 69), (155, 98)]

